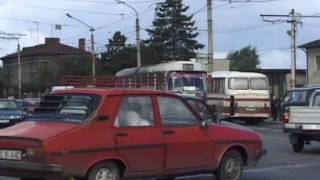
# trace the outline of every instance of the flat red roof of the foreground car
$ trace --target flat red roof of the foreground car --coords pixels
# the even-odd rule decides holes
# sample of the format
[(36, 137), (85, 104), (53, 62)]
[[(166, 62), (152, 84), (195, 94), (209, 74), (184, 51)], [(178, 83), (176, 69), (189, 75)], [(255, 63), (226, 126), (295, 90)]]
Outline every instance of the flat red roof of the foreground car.
[(74, 88), (66, 90), (57, 90), (52, 94), (95, 94), (100, 96), (109, 96), (109, 95), (126, 95), (126, 94), (147, 94), (147, 95), (175, 95), (174, 93), (159, 91), (159, 90), (149, 90), (149, 89), (119, 89), (119, 88)]

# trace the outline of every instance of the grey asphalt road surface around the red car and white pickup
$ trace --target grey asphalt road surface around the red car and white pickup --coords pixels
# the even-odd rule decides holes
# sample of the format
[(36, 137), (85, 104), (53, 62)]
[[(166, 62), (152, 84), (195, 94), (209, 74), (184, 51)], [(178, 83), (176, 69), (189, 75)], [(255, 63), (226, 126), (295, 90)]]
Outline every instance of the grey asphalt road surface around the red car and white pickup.
[[(264, 156), (257, 167), (246, 168), (242, 180), (319, 180), (320, 143), (307, 145), (303, 152), (294, 153), (288, 135), (281, 130), (280, 123), (267, 121), (250, 126), (263, 134), (264, 146), (268, 155)], [(215, 180), (213, 175), (181, 177), (179, 180)], [(18, 180), (0, 177), (0, 180)]]

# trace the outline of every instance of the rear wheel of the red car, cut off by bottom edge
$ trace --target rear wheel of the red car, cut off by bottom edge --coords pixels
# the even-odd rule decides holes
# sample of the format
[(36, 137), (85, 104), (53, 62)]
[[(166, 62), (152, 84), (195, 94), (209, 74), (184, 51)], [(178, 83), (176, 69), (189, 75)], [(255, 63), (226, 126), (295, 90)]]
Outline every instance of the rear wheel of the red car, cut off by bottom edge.
[(120, 180), (119, 168), (112, 162), (95, 165), (88, 174), (87, 180)]

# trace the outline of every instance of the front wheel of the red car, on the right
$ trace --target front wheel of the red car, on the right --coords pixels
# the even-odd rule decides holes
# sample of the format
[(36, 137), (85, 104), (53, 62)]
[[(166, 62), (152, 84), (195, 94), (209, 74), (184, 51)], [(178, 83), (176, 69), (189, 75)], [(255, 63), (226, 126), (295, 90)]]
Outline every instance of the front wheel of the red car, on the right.
[(222, 158), (218, 171), (217, 180), (239, 180), (242, 176), (243, 159), (238, 151), (230, 150)]

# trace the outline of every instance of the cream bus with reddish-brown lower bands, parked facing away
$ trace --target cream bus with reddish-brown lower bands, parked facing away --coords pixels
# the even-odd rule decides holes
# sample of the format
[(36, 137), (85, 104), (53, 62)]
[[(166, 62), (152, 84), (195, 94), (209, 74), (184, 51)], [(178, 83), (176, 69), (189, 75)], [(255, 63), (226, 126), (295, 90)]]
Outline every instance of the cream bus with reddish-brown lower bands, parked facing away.
[(270, 117), (268, 78), (261, 73), (216, 71), (208, 74), (207, 102), (218, 115), (262, 120)]

